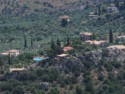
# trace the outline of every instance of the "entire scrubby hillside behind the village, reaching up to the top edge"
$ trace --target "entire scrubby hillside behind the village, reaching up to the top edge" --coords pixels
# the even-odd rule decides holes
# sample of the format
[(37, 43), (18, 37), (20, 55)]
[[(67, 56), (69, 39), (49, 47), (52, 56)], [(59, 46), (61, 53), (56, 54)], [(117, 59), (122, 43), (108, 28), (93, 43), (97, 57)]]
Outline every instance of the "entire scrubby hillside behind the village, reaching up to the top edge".
[[(98, 9), (98, 0), (92, 0), (95, 4), (84, 1), (83, 3), (77, 1), (72, 4), (68, 2), (69, 0), (65, 0), (68, 2), (68, 5), (64, 4), (64, 1), (60, 2), (60, 4), (64, 4), (64, 9), (63, 7), (54, 7), (54, 9), (50, 8), (47, 10), (45, 6), (45, 10), (41, 10), (38, 6), (38, 2), (37, 4), (33, 3), (36, 2), (34, 0), (30, 2), (28, 2), (28, 0), (24, 1), (19, 2), (13, 0), (13, 2), (11, 2), (11, 0), (1, 0), (1, 51), (12, 48), (22, 49), (24, 34), (27, 36), (28, 46), (30, 46), (31, 38), (33, 39), (35, 50), (37, 48), (43, 49), (43, 44), (48, 45), (52, 36), (58, 36), (62, 41), (65, 41), (66, 35), (74, 38), (78, 37), (82, 31), (96, 32), (97, 35), (102, 35), (103, 33), (103, 37), (106, 37), (110, 27), (114, 32), (124, 32), (125, 30), (125, 21), (123, 20), (125, 18), (125, 11), (123, 9), (121, 9), (119, 13), (108, 14), (105, 12), (106, 7), (111, 6), (112, 2), (108, 4), (101, 2), (103, 3), (101, 7), (104, 9), (100, 18), (90, 20), (89, 14), (96, 12)], [(47, 2), (50, 2), (50, 0)], [(57, 1), (55, 0), (54, 2)], [(32, 6), (34, 5), (36, 5), (37, 8), (33, 8)], [(121, 6), (123, 6), (123, 3), (121, 3)], [(70, 17), (70, 23), (65, 28), (61, 27), (61, 21), (59, 20), (61, 15), (69, 15)]]

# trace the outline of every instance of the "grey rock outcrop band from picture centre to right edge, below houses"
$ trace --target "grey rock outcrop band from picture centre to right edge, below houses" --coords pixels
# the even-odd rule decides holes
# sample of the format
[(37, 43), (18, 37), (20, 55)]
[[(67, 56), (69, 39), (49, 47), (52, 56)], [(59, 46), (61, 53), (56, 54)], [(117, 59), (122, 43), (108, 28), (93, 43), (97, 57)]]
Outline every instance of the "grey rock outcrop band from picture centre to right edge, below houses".
[(54, 61), (54, 64), (60, 70), (69, 72), (81, 71), (84, 69), (84, 62), (89, 62), (92, 65), (98, 65), (101, 61), (117, 61), (125, 62), (125, 48), (104, 48), (95, 51), (89, 51), (83, 55), (67, 56)]

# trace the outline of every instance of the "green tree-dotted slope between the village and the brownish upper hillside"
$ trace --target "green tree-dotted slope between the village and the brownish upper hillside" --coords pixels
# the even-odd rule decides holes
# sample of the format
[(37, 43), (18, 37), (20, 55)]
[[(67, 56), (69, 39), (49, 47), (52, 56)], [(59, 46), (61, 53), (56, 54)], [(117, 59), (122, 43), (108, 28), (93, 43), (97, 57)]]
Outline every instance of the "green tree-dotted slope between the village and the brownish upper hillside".
[[(94, 11), (94, 9), (95, 8), (90, 7), (84, 10), (65, 12), (65, 14), (70, 16), (71, 20), (69, 27), (65, 28), (60, 26), (59, 21), (59, 16), (64, 14), (63, 11), (56, 11), (53, 13), (36, 12), (34, 13), (35, 16), (28, 16), (28, 18), (22, 16), (25, 12), (21, 13), (19, 17), (12, 16), (12, 18), (11, 16), (3, 15), (2, 17), (4, 19), (1, 18), (1, 21), (4, 21), (4, 23), (0, 24), (1, 37), (5, 37), (5, 39), (12, 37), (16, 40), (1, 43), (1, 51), (11, 48), (22, 49), (24, 33), (27, 35), (29, 47), (30, 38), (34, 38), (34, 49), (36, 49), (38, 48), (38, 44), (41, 45), (41, 47), (44, 47), (45, 44), (49, 43), (52, 36), (54, 36), (55, 39), (56, 36), (59, 36), (64, 41), (66, 39), (66, 34), (72, 37), (77, 37), (79, 32), (82, 31), (91, 31), (100, 34), (107, 33), (109, 28), (112, 28), (114, 31), (124, 32), (125, 21), (121, 19), (124, 17), (124, 11), (118, 14), (112, 14), (109, 19), (106, 19), (104, 15), (101, 15), (102, 22), (100, 24), (98, 23), (98, 20), (88, 20), (88, 14), (91, 11)], [(112, 19), (116, 15), (120, 15), (120, 17)], [(27, 29), (27, 31), (25, 31), (25, 29)]]

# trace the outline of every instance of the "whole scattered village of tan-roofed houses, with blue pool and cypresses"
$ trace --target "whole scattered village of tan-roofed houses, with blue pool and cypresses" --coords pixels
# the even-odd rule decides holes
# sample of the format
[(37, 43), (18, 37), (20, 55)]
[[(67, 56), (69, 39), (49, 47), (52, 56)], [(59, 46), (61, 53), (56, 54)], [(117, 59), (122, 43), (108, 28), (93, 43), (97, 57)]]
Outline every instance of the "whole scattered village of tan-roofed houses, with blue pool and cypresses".
[[(117, 13), (119, 12), (118, 8), (115, 6), (111, 6), (111, 7), (107, 7), (106, 9), (107, 13)], [(94, 13), (94, 12), (90, 12), (90, 14), (88, 15), (89, 20), (94, 20), (94, 19), (98, 19), (99, 15)], [(61, 21), (61, 26), (62, 27), (67, 27), (68, 23), (70, 22), (70, 16), (68, 15), (62, 15), (59, 17), (59, 20)], [(92, 50), (98, 50), (98, 49), (104, 49), (104, 48), (108, 48), (108, 49), (125, 49), (124, 46), (124, 41), (125, 41), (125, 35), (121, 34), (121, 32), (118, 33), (114, 33), (112, 30), (109, 30), (108, 32), (109, 34), (106, 35), (96, 35), (95, 33), (92, 32), (80, 32), (79, 33), (79, 38), (77, 39), (73, 39), (70, 40), (70, 38), (67, 36), (67, 43), (66, 45), (64, 45), (64, 43), (62, 43), (58, 37), (57, 37), (57, 48), (55, 48), (55, 44), (53, 39), (51, 38), (51, 51), (49, 54), (54, 55), (53, 58), (57, 59), (57, 58), (65, 58), (70, 56), (70, 52), (76, 51), (77, 48), (73, 47), (72, 44), (74, 41), (76, 41), (76, 46), (77, 45), (83, 45), (83, 46), (90, 46), (91, 48), (88, 51), (92, 51)], [(108, 37), (107, 37), (108, 36)], [(97, 38), (99, 37), (99, 38)], [(80, 42), (81, 44), (77, 43)], [(31, 42), (31, 45), (32, 42)], [(26, 44), (25, 44), (26, 46)], [(59, 48), (60, 47), (60, 48)], [(94, 48), (94, 49), (93, 49)], [(38, 49), (37, 49), (38, 50)], [(61, 51), (57, 51), (57, 50), (61, 50)], [(57, 53), (55, 54), (55, 52), (57, 51)], [(18, 57), (19, 55), (21, 55), (23, 53), (20, 52), (20, 50), (17, 49), (12, 49), (12, 50), (8, 50), (5, 52), (1, 52), (0, 55), (1, 56), (8, 56), (9, 60), (8, 62), (11, 62), (11, 58), (13, 57)], [(9, 67), (9, 72), (13, 73), (13, 72), (20, 72), (20, 71), (24, 71), (27, 69), (30, 69), (31, 67), (36, 67), (39, 63), (42, 63), (42, 61), (51, 59), (51, 57), (47, 54), (38, 54), (32, 57), (32, 61), (34, 62), (31, 65), (28, 65), (27, 67), (25, 66), (21, 66), (21, 67)]]

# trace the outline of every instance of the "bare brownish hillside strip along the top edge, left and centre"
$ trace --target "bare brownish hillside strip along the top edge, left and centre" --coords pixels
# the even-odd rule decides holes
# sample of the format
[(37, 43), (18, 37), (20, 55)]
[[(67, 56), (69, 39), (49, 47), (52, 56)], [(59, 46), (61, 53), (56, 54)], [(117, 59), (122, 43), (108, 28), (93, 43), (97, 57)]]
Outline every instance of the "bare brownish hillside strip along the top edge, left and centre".
[(61, 9), (75, 3), (79, 3), (79, 0), (0, 0), (0, 10), (9, 8), (18, 12), (18, 10), (25, 7), (30, 12), (34, 12), (34, 10), (47, 11)]

